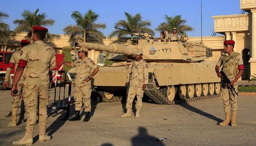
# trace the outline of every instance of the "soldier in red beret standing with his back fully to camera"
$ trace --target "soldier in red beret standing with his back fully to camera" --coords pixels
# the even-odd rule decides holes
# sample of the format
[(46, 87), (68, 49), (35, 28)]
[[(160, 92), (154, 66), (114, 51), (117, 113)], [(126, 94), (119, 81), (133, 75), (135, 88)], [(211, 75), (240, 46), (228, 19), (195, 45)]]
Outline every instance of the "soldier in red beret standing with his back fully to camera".
[(14, 84), (11, 95), (24, 68), (26, 67), (24, 92), (22, 97), (27, 113), (27, 126), (24, 138), (14, 141), (13, 145), (33, 144), (33, 132), (36, 124), (36, 109), (39, 103), (39, 142), (51, 139), (46, 135), (47, 127), (47, 104), (49, 100), (49, 71), (56, 67), (55, 50), (52, 46), (45, 44), (42, 40), (48, 29), (45, 27), (32, 27), (31, 40), (34, 43), (25, 46), (20, 51), (20, 60), (14, 76)]

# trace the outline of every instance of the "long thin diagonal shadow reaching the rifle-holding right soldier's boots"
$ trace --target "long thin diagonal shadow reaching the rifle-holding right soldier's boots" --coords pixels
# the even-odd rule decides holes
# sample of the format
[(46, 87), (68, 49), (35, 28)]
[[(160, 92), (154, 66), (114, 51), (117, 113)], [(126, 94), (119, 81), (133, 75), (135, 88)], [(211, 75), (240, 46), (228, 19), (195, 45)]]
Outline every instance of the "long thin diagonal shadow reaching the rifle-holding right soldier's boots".
[(200, 110), (200, 109), (197, 109), (191, 105), (189, 105), (187, 102), (184, 102), (182, 104), (178, 104), (179, 106), (182, 106), (183, 108), (185, 109), (188, 109), (190, 111), (193, 111), (194, 113), (197, 113), (197, 114), (200, 114), (200, 115), (203, 115), (204, 117), (207, 117), (207, 118), (210, 118), (210, 119), (213, 119), (214, 121), (220, 123), (222, 121), (222, 119), (218, 118), (218, 117), (215, 117), (214, 115), (212, 114), (209, 114), (209, 113), (206, 113), (205, 111), (203, 110)]

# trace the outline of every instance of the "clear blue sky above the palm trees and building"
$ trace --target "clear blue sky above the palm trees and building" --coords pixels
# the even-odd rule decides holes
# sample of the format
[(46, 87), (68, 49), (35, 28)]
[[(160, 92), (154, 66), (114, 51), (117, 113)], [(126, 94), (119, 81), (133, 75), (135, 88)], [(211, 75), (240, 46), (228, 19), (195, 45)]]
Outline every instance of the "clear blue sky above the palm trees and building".
[[(203, 1), (203, 36), (210, 36), (213, 32), (213, 18), (216, 15), (233, 15), (240, 14), (240, 0), (202, 0)], [(131, 15), (140, 13), (143, 20), (150, 20), (151, 29), (156, 29), (158, 25), (165, 22), (164, 15), (176, 16), (181, 15), (182, 19), (187, 20), (187, 25), (190, 25), (195, 30), (188, 32), (188, 36), (201, 36), (200, 23), (200, 2), (201, 0), (93, 0), (93, 1), (65, 1), (65, 0), (44, 0), (44, 1), (1, 1), (0, 11), (9, 14), (8, 19), (3, 22), (10, 25), (13, 30), (16, 25), (13, 21), (22, 19), (22, 12), (30, 10), (34, 12), (39, 8), (39, 13), (46, 13), (47, 18), (55, 20), (55, 25), (47, 27), (50, 33), (64, 34), (63, 29), (67, 25), (74, 25), (75, 22), (71, 18), (72, 11), (80, 11), (85, 14), (92, 9), (100, 17), (97, 23), (105, 23), (107, 28), (101, 29), (105, 36), (114, 30), (114, 24), (118, 20), (125, 19), (124, 12), (129, 12)], [(156, 32), (156, 36), (159, 36)]]

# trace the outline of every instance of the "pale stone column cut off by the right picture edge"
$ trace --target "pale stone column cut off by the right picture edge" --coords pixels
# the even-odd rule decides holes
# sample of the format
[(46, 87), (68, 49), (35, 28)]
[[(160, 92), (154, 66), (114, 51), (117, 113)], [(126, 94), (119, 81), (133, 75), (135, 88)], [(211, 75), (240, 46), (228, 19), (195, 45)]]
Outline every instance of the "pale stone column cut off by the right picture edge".
[(251, 75), (256, 74), (256, 8), (251, 10)]

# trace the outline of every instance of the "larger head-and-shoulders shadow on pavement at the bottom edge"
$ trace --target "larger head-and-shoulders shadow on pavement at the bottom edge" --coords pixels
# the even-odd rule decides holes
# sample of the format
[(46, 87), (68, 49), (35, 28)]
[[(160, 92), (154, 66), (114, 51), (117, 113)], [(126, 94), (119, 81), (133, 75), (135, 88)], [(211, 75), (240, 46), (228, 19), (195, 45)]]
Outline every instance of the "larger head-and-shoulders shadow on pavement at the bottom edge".
[(138, 135), (134, 136), (131, 139), (131, 143), (133, 146), (140, 146), (140, 145), (158, 145), (164, 146), (164, 143), (161, 141), (156, 141), (156, 137), (152, 135), (148, 135), (147, 129), (145, 127), (138, 128)]

